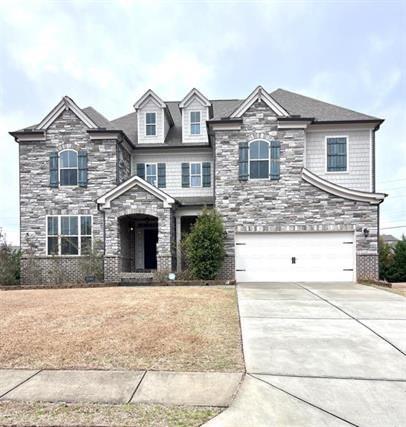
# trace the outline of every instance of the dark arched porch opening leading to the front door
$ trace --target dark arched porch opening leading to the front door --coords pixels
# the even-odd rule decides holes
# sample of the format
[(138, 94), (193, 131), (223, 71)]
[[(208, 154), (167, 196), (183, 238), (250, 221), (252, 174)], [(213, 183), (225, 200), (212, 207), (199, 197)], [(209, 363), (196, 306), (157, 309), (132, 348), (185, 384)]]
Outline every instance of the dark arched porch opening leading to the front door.
[(157, 270), (158, 218), (130, 214), (118, 218), (120, 230), (121, 271)]

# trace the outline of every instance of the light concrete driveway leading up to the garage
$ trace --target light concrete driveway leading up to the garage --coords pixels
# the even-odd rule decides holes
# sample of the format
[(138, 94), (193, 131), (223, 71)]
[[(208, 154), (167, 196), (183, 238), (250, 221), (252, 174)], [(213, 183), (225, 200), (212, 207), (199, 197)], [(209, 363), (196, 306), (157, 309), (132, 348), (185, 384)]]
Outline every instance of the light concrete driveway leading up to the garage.
[(406, 425), (406, 298), (353, 283), (239, 284), (247, 376), (210, 426)]

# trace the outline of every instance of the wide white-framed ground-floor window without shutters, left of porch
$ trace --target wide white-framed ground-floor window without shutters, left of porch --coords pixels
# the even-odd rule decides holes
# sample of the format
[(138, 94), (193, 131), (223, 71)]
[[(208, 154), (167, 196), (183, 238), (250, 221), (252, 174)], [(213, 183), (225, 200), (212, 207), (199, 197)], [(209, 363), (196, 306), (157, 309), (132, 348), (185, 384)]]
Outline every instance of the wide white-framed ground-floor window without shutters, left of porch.
[(49, 216), (47, 220), (48, 255), (87, 255), (92, 248), (90, 215)]

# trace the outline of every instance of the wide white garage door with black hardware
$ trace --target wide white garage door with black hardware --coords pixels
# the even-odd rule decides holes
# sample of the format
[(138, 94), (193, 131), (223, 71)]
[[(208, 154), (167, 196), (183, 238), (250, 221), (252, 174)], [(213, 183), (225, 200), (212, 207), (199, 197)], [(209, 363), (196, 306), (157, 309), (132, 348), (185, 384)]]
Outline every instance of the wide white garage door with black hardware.
[(236, 234), (236, 280), (351, 282), (353, 238), (351, 232)]

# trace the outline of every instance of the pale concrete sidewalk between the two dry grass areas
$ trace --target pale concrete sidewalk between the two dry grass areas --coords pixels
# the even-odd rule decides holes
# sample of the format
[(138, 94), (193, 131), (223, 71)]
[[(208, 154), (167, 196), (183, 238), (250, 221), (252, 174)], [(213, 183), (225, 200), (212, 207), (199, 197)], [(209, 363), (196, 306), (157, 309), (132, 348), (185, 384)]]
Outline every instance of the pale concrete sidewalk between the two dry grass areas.
[(157, 403), (227, 407), (241, 373), (0, 370), (0, 401)]

